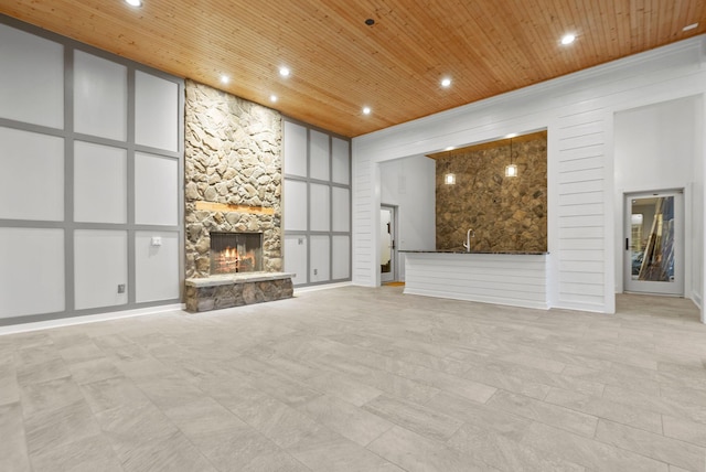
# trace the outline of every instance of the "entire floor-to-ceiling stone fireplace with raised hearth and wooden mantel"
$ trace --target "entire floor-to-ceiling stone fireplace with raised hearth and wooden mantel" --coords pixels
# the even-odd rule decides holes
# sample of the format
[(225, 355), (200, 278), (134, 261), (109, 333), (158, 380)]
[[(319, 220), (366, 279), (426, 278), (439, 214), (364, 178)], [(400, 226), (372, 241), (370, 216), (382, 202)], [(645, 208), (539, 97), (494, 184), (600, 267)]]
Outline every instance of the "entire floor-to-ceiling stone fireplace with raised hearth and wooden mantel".
[(281, 116), (192, 81), (185, 92), (188, 310), (291, 297), (281, 272)]

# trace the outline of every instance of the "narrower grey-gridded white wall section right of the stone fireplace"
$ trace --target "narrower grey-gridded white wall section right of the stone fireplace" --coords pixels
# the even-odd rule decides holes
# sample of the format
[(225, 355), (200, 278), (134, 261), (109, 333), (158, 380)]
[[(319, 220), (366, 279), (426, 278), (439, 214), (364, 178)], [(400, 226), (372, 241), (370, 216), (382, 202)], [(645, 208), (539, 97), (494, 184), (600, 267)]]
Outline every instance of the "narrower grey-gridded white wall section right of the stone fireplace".
[(351, 280), (351, 141), (285, 118), (285, 270), (295, 287)]

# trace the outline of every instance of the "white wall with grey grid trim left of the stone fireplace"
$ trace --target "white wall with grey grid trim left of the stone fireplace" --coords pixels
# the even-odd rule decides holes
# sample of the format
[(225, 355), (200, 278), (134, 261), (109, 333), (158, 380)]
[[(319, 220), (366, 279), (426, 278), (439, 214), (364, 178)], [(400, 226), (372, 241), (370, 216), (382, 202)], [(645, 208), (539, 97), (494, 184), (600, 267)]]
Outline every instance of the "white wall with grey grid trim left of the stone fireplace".
[(0, 325), (179, 302), (183, 81), (3, 15), (0, 44), (0, 235), (32, 255)]

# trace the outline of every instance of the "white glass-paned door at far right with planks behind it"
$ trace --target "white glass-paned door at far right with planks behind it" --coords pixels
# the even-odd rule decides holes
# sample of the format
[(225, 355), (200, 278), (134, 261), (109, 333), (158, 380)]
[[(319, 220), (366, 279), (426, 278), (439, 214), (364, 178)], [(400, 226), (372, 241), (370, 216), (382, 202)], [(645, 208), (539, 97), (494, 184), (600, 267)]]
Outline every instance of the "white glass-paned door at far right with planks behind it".
[(684, 296), (684, 195), (625, 195), (625, 291)]

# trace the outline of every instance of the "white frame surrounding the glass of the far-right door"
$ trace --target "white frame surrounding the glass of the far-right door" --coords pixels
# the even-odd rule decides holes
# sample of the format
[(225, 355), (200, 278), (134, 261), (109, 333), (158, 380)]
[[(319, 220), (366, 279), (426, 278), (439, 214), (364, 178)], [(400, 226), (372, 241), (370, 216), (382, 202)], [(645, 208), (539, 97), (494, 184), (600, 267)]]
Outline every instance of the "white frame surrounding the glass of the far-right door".
[[(643, 281), (640, 282), (641, 285), (643, 285), (643, 287), (641, 288), (635, 288), (634, 286), (631, 287), (631, 285), (633, 283), (632, 280), (632, 270), (631, 270), (631, 257), (630, 257), (630, 249), (629, 249), (629, 242), (631, 240), (632, 237), (632, 225), (631, 225), (631, 218), (632, 218), (632, 212), (631, 212), (631, 207), (632, 207), (632, 203), (630, 202), (633, 199), (644, 199), (644, 197), (653, 197), (653, 196), (671, 196), (673, 195), (674, 199), (674, 212), (675, 212), (675, 219), (682, 222), (681, 225), (675, 226), (674, 228), (674, 248), (675, 248), (675, 255), (674, 255), (674, 266), (675, 266), (675, 272), (674, 272), (674, 277), (676, 278), (677, 276), (680, 276), (678, 280), (678, 286), (681, 288), (681, 290), (677, 290), (678, 293), (667, 293), (667, 292), (663, 292), (659, 289), (659, 285), (663, 283), (663, 282), (650, 282), (650, 281)], [(644, 293), (644, 294), (662, 294), (662, 296), (670, 296), (670, 297), (686, 297), (686, 288), (688, 287), (687, 282), (688, 282), (688, 272), (691, 270), (691, 265), (687, 264), (687, 257), (686, 257), (686, 253), (688, 251), (688, 248), (686, 247), (686, 235), (688, 234), (687, 232), (689, 230), (691, 227), (691, 222), (687, 221), (686, 215), (688, 215), (688, 199), (687, 199), (688, 194), (687, 194), (687, 189), (686, 187), (675, 187), (675, 189), (660, 189), (660, 190), (644, 190), (644, 191), (631, 191), (631, 192), (623, 192), (622, 193), (622, 204), (623, 204), (623, 221), (622, 221), (622, 227), (623, 227), (623, 237), (621, 240), (621, 246), (622, 246), (622, 253), (623, 253), (623, 257), (622, 259), (622, 271), (623, 271), (623, 292), (625, 293)], [(687, 267), (689, 266), (689, 267)]]

